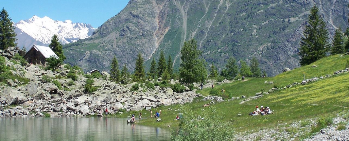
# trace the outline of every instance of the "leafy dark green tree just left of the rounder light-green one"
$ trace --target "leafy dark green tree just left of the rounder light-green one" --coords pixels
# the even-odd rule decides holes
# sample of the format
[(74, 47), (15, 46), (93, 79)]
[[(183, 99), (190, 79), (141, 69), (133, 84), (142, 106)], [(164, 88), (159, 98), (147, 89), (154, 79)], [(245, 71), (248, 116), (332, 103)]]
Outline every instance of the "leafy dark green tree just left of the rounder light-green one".
[(221, 72), (221, 76), (225, 79), (234, 79), (239, 73), (238, 65), (236, 64), (236, 59), (230, 57), (228, 63), (225, 65), (225, 68)]

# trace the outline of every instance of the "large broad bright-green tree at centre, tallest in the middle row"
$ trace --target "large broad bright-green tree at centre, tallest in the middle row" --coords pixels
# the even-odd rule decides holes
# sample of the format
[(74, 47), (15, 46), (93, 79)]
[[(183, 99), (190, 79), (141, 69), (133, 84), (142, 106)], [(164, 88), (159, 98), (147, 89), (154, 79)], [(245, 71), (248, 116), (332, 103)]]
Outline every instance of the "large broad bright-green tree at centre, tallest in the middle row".
[(196, 47), (194, 39), (184, 42), (181, 53), (179, 68), (180, 81), (188, 84), (205, 81), (207, 70), (206, 61), (199, 59), (201, 52)]

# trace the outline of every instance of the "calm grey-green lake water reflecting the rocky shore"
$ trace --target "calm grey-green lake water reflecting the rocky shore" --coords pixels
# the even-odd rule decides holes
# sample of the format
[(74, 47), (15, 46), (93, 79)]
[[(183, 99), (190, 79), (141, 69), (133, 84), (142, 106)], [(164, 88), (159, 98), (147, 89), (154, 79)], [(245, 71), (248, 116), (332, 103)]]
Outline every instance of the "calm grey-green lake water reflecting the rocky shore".
[(0, 141), (169, 141), (167, 128), (120, 118), (0, 118)]

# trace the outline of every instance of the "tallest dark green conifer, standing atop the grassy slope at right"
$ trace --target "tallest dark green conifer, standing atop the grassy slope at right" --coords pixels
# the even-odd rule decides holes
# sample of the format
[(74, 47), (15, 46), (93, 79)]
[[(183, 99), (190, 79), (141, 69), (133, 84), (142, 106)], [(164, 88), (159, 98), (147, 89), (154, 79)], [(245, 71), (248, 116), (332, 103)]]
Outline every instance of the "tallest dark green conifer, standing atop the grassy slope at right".
[(325, 57), (330, 47), (327, 41), (329, 33), (326, 29), (326, 23), (322, 20), (316, 5), (310, 10), (307, 23), (298, 52), (301, 56), (300, 65), (302, 66)]

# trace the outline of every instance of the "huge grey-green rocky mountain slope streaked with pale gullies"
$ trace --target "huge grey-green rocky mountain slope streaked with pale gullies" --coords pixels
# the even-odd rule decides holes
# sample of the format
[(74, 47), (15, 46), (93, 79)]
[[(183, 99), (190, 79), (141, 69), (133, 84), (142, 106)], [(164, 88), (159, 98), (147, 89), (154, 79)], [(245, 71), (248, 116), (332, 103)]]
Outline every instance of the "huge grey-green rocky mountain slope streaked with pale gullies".
[(331, 36), (347, 27), (348, 0), (130, 0), (90, 38), (66, 45), (66, 62), (108, 71), (115, 55), (133, 69), (139, 51), (148, 60), (164, 50), (178, 68), (183, 42), (194, 38), (209, 64), (257, 57), (276, 75), (299, 66), (299, 40), (315, 3)]

